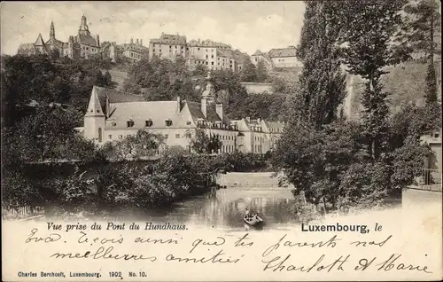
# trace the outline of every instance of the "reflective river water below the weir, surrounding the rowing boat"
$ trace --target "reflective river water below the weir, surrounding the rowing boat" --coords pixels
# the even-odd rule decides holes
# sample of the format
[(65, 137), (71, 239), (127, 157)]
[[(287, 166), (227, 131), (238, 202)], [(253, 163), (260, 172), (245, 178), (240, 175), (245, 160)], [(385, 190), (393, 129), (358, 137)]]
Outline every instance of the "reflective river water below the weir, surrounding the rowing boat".
[[(212, 196), (198, 196), (167, 210), (150, 211), (136, 217), (146, 222), (260, 230), (272, 228), (278, 223), (296, 223), (291, 213), (293, 204), (293, 196), (286, 188), (229, 187), (218, 190)], [(245, 208), (259, 213), (265, 223), (258, 227), (246, 224), (243, 219)]]

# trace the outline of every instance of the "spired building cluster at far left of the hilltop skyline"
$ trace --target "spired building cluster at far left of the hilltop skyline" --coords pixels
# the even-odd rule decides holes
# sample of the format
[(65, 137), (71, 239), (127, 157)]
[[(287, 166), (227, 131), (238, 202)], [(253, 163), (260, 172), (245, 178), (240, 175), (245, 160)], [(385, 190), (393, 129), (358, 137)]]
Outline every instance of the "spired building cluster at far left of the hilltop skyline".
[(66, 43), (56, 38), (54, 22), (51, 22), (50, 39), (46, 43), (43, 41), (42, 34), (39, 34), (35, 43), (20, 44), (17, 53), (27, 56), (48, 54), (55, 57), (88, 59), (91, 55), (100, 53), (100, 40), (98, 35), (90, 34), (86, 17), (83, 15), (78, 34), (69, 36)]

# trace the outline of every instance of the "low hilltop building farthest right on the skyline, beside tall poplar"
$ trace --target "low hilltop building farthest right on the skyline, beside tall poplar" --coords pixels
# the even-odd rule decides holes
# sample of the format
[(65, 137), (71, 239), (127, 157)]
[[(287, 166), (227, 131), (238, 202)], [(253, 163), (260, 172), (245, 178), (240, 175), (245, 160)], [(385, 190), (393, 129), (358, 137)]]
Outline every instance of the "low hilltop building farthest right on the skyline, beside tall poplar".
[(275, 70), (276, 68), (292, 68), (301, 67), (301, 62), (297, 59), (296, 49), (294, 46), (288, 48), (271, 49), (268, 52), (255, 51), (251, 56), (253, 64), (257, 66), (260, 61), (263, 61), (268, 70)]

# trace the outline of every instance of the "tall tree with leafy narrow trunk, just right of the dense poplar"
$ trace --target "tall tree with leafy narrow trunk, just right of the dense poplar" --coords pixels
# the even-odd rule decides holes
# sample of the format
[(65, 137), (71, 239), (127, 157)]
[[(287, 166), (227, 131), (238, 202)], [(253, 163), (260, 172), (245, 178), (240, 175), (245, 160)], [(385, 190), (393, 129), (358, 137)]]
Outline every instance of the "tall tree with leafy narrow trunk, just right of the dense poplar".
[(343, 61), (351, 74), (366, 80), (361, 104), (368, 140), (369, 155), (374, 159), (385, 150), (388, 131), (388, 93), (380, 78), (386, 66), (408, 58), (401, 45), (392, 42), (403, 24), (403, 0), (371, 1), (368, 3), (340, 2), (341, 12), (347, 14), (341, 29)]

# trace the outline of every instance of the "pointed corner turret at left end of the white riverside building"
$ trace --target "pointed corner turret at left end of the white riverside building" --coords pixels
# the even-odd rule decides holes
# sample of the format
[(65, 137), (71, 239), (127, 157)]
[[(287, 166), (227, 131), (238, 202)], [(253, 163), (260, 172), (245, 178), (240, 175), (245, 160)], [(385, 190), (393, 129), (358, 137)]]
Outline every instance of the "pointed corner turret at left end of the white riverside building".
[(88, 110), (84, 115), (84, 137), (103, 144), (105, 122), (105, 114), (98, 99), (97, 86), (94, 86), (89, 98)]

